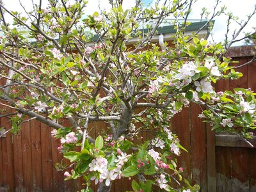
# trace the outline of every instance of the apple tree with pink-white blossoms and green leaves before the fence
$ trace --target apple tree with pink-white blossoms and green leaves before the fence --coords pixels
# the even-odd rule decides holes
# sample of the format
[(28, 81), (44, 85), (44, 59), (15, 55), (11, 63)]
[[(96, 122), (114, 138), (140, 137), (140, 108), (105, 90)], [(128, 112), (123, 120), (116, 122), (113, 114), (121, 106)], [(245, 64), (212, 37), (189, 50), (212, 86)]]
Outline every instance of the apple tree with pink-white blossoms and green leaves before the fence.
[[(113, 180), (133, 176), (134, 191), (151, 191), (152, 185), (176, 190), (171, 181), (178, 183), (178, 191), (196, 191), (198, 186), (188, 182), (180, 185), (182, 168), (175, 156), (186, 149), (168, 122), (183, 106), (195, 102), (204, 106), (200, 117), (215, 131), (251, 136), (255, 93), (242, 88), (216, 93), (212, 84), (242, 76), (229, 66), (225, 52), (255, 12), (221, 45), (198, 39), (200, 30), (184, 35), (191, 24), (192, 0), (157, 1), (153, 8), (137, 0), (129, 10), (122, 3), (110, 0), (108, 12), (85, 19), (81, 19), (84, 0), (73, 4), (49, 0), (45, 9), (39, 1), (27, 12), (28, 18), (1, 3), (0, 78), (6, 80), (0, 85), (1, 117), (11, 118), (12, 132), (33, 119), (53, 127), (60, 152), (74, 166), (64, 174), (67, 179), (83, 177), (83, 191), (92, 191), (92, 181), (99, 182), (98, 191), (109, 191)], [(225, 7), (216, 11), (217, 6), (218, 1), (212, 15), (203, 10), (205, 26), (225, 13)], [(13, 17), (13, 26), (4, 19), (7, 14)], [(174, 18), (177, 32), (173, 45), (161, 45), (161, 51), (150, 40), (166, 17)], [(141, 29), (141, 22), (147, 31)], [(127, 47), (134, 38), (133, 47)], [(61, 125), (63, 119), (70, 127)], [(108, 129), (92, 138), (90, 122), (106, 122)], [(134, 144), (144, 131), (153, 139)]]

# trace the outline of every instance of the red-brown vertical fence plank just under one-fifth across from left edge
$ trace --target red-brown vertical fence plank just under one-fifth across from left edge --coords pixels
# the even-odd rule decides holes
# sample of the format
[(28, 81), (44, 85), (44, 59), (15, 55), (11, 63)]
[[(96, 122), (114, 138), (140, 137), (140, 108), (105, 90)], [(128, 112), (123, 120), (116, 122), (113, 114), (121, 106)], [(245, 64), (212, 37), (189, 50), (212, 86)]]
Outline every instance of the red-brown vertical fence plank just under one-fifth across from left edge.
[(40, 123), (42, 141), (42, 188), (44, 192), (52, 191), (52, 145), (51, 127)]

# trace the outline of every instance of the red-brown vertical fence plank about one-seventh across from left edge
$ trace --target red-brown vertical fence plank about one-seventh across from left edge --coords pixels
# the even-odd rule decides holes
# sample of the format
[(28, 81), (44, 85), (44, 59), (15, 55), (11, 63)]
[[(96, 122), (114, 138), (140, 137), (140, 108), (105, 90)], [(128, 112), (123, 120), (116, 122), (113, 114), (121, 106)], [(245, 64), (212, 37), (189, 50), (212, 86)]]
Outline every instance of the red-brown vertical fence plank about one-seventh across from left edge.
[(40, 122), (30, 122), (32, 143), (33, 191), (42, 191), (42, 148)]

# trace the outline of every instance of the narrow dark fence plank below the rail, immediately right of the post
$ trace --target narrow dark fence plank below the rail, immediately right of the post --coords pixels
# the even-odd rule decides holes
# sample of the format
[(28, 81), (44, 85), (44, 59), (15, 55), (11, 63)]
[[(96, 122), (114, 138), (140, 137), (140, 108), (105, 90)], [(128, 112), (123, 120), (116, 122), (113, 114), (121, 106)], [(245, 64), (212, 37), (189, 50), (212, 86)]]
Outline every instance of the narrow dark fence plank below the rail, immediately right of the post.
[(231, 148), (216, 147), (216, 191), (232, 192), (231, 166)]

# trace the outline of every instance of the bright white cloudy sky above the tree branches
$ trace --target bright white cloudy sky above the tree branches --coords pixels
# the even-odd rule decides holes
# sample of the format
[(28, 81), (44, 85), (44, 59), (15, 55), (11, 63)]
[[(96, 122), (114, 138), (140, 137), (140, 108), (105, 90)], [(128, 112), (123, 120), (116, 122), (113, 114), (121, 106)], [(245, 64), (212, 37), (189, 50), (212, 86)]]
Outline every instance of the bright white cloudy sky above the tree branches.
[[(33, 0), (34, 3), (38, 2), (38, 0)], [(74, 0), (71, 0), (74, 1)], [(143, 3), (149, 4), (151, 1), (156, 0), (143, 0)], [(29, 10), (31, 9), (31, 1), (30, 0), (22, 0), (22, 4)], [(46, 6), (47, 1), (42, 1), (44, 6)], [(89, 0), (88, 6), (86, 8), (86, 14), (92, 14), (95, 11), (99, 10), (99, 5), (101, 8), (106, 8), (108, 10), (110, 8), (109, 6), (109, 0)], [(10, 10), (20, 12), (22, 10), (19, 1), (18, 0), (3, 0), (4, 5), (6, 8), (9, 8)], [(193, 12), (189, 16), (189, 19), (200, 19), (200, 13), (203, 7), (207, 8), (207, 10), (211, 11), (214, 6), (215, 1), (214, 0), (198, 0), (196, 1), (196, 4), (192, 7)], [(15, 6), (13, 6), (15, 4)], [(124, 8), (129, 8), (131, 6), (134, 6), (134, 1), (132, 0), (124, 0)], [(253, 11), (253, 8), (256, 4), (255, 0), (222, 0), (222, 5), (225, 4), (227, 6), (227, 12), (232, 12), (234, 15), (239, 17), (239, 20), (245, 20), (246, 15), (251, 13)], [(220, 6), (219, 6), (220, 7)], [(8, 18), (7, 20), (10, 20)], [(227, 31), (227, 17), (220, 16), (216, 17), (214, 28), (212, 29), (213, 33), (213, 39), (214, 42), (221, 42), (225, 38), (225, 32)], [(252, 31), (252, 27), (256, 27), (256, 16), (252, 18), (250, 21), (248, 27), (245, 29), (244, 32), (250, 32)], [(230, 33), (233, 33), (234, 29), (238, 28), (237, 24), (233, 24), (230, 28)], [(231, 35), (231, 34), (230, 34)], [(240, 38), (243, 37), (243, 34), (240, 36)], [(237, 44), (238, 45), (238, 44)]]

